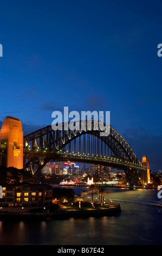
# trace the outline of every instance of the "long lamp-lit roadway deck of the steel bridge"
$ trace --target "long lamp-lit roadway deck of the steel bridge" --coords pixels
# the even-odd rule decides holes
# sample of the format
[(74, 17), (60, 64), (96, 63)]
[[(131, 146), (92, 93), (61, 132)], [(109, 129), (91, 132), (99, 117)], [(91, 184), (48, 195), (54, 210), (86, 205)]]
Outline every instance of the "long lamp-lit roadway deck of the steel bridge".
[[(4, 153), (5, 150), (1, 149), (0, 151), (3, 151)], [(38, 175), (41, 169), (50, 161), (74, 161), (101, 164), (102, 166), (109, 166), (119, 170), (124, 170), (129, 186), (145, 186), (143, 180), (146, 167), (142, 166), (141, 163), (133, 163), (120, 159), (119, 157), (99, 155), (91, 156), (84, 153), (64, 152), (63, 150), (48, 152), (47, 150), (40, 151), (30, 149), (24, 149), (23, 155), (24, 169), (29, 167), (31, 169), (31, 173), (35, 175)]]

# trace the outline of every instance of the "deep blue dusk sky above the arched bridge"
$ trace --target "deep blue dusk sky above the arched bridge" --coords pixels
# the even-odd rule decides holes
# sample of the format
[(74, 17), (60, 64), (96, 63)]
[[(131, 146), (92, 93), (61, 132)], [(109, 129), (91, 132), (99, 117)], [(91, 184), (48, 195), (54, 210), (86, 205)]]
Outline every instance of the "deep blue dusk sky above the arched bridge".
[(51, 113), (110, 111), (111, 125), (153, 171), (161, 166), (161, 0), (1, 0), (1, 124), (24, 134)]

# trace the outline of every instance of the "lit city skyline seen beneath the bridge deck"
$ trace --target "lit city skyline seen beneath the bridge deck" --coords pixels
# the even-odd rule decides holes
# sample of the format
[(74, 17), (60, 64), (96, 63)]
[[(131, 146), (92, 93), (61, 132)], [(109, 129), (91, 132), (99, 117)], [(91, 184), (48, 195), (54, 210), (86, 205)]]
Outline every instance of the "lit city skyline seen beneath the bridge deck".
[[(88, 180), (93, 180), (93, 184), (96, 182), (109, 182), (109, 184), (121, 185), (118, 178), (115, 177), (116, 174), (120, 174), (122, 178), (125, 178), (124, 170), (119, 170), (117, 168), (102, 166), (101, 164), (84, 164), (81, 166), (80, 163), (67, 161), (67, 162), (48, 162), (46, 166), (42, 168), (42, 175), (48, 180), (52, 179), (54, 176), (59, 177), (60, 185), (62, 184), (75, 184), (80, 182), (87, 183)], [(62, 179), (61, 179), (62, 178)], [(122, 180), (123, 181), (123, 180)], [(51, 181), (53, 182), (53, 181)], [(69, 183), (68, 183), (69, 182)], [(126, 180), (124, 180), (123, 185), (126, 185)], [(78, 186), (78, 185), (77, 185)]]

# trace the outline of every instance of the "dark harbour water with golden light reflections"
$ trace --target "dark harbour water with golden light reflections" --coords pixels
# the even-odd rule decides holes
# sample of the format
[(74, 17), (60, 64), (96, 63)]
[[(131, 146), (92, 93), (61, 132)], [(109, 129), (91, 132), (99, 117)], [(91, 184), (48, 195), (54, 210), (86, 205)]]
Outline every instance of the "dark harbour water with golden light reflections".
[[(70, 187), (79, 194), (86, 187)], [(120, 203), (113, 217), (1, 221), (0, 245), (162, 245), (157, 190), (107, 188), (106, 203)], [(90, 195), (89, 195), (90, 197)], [(94, 195), (94, 199), (98, 195)]]

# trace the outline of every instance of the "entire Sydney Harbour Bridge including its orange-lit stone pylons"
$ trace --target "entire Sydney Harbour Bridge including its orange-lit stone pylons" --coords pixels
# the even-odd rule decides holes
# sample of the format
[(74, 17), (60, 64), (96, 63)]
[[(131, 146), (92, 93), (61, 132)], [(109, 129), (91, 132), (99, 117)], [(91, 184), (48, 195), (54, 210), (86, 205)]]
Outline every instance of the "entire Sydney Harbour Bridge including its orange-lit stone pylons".
[[(16, 129), (13, 126), (13, 121), (16, 122)], [(8, 123), (11, 123), (9, 126), (12, 136), (9, 136), (7, 132), (5, 133), (5, 130), (8, 129)], [(30, 169), (31, 173), (36, 175), (50, 161), (75, 161), (101, 164), (124, 170), (129, 186), (145, 186), (150, 183), (147, 157), (144, 156), (140, 162), (124, 137), (112, 126), (109, 127), (107, 136), (100, 136), (99, 121), (92, 120), (90, 126), (88, 121), (85, 121), (84, 124), (82, 126), (81, 121), (77, 122), (75, 130), (69, 129), (67, 123), (62, 124), (62, 130), (53, 130), (52, 126), (49, 125), (23, 136), (23, 142), (21, 142), (18, 141), (22, 131), (21, 121), (17, 118), (7, 117), (4, 119), (0, 133), (1, 164), (5, 162), (5, 165), (9, 166), (8, 157), (4, 156), (14, 154), (12, 158), (15, 157), (16, 159), (16, 157), (21, 156), (21, 151), (23, 151), (23, 168)], [(99, 127), (98, 130), (96, 130), (96, 126)], [(13, 137), (15, 131), (11, 132), (11, 127), (14, 127), (15, 131), (19, 133), (17, 139)], [(13, 149), (10, 150), (10, 153), (7, 144), (12, 145)], [(10, 166), (14, 166), (15, 161), (13, 160), (13, 164), (10, 163)]]

